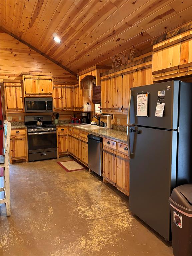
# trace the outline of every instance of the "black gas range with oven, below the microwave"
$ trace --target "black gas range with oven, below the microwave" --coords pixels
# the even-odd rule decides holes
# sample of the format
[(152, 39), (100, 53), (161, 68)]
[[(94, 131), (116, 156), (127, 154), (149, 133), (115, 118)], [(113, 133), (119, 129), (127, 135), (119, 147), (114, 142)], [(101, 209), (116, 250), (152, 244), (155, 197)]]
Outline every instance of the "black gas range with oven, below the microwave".
[[(42, 125), (37, 125), (37, 120)], [(57, 158), (57, 132), (51, 116), (25, 116), (29, 161)]]

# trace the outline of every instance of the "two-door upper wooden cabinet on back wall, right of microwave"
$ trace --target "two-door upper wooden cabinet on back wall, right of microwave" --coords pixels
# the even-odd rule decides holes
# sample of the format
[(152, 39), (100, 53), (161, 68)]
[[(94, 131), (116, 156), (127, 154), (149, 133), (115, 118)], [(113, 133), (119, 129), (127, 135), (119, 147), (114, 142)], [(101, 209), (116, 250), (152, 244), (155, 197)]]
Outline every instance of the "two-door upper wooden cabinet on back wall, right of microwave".
[(53, 106), (54, 111), (74, 109), (73, 86), (72, 85), (53, 85)]

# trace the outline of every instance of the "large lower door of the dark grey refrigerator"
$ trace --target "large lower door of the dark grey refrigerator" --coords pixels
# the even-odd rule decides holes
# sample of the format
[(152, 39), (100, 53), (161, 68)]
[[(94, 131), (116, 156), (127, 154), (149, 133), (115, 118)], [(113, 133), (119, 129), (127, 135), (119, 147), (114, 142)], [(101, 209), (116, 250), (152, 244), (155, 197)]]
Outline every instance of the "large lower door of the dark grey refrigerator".
[(129, 130), (130, 137), (134, 137), (130, 159), (130, 210), (170, 240), (168, 198), (176, 182), (177, 131), (145, 127)]

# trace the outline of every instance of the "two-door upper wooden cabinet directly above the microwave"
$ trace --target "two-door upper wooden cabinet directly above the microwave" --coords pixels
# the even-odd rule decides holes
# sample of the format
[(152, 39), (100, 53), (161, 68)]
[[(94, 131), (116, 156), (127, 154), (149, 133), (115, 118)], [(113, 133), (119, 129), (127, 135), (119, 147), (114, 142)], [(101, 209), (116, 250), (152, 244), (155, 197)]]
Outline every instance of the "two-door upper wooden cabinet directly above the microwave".
[(52, 97), (52, 75), (22, 73), (24, 97)]

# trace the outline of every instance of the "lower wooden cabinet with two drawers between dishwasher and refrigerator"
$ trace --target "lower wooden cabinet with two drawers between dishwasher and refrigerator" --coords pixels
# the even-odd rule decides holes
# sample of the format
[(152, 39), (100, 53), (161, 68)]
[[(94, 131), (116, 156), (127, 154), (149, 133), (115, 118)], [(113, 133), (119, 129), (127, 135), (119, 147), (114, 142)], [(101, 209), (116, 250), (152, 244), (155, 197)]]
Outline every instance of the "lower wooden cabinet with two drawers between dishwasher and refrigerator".
[(103, 138), (103, 181), (129, 196), (129, 157), (126, 144)]

